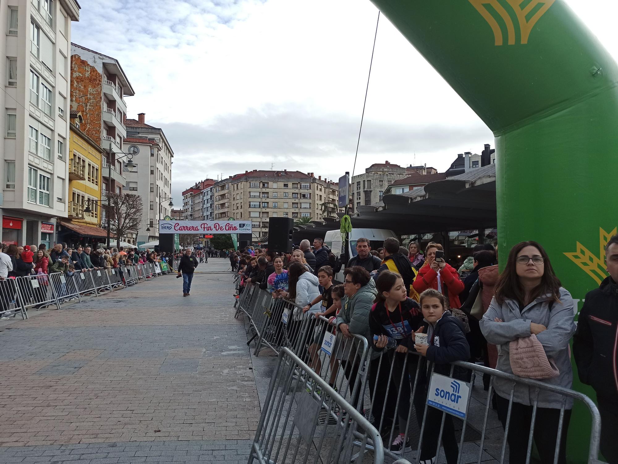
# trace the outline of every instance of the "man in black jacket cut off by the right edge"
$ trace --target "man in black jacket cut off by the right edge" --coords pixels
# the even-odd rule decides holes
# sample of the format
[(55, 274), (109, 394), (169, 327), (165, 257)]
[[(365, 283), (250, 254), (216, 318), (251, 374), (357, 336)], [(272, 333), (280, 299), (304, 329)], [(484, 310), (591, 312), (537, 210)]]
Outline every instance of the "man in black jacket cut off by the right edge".
[(606, 277), (588, 292), (577, 319), (573, 355), (580, 381), (596, 392), (601, 413), (601, 453), (610, 464), (618, 463), (618, 235), (605, 248)]

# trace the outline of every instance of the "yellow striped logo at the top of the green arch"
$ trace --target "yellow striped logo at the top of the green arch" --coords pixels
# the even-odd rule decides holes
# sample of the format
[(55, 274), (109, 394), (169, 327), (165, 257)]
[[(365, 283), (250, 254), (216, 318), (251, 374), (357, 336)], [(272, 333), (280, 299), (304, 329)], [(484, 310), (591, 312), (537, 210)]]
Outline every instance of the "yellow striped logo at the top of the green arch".
[[(494, 39), (496, 45), (502, 45), (504, 38), (502, 37), (502, 30), (498, 25), (496, 18), (489, 11), (490, 7), (493, 9), (506, 24), (507, 40), (509, 45), (515, 44), (515, 27), (513, 20), (510, 19), (509, 13), (504, 9), (502, 4), (498, 0), (468, 0), (472, 3), (472, 6), (478, 10), (478, 12), (489, 23), (491, 30), (494, 32)], [(531, 0), (522, 8), (524, 0), (506, 0), (507, 4), (513, 9), (517, 21), (519, 22), (519, 29), (522, 38), (522, 44), (528, 43), (528, 37), (536, 22), (541, 19), (554, 4), (556, 0)]]

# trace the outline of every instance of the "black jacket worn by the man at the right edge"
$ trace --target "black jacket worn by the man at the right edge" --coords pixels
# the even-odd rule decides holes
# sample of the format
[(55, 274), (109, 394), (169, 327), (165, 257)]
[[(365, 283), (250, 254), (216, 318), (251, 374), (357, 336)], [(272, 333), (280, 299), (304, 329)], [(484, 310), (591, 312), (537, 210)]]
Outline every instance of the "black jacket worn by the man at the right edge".
[[(588, 292), (577, 319), (573, 355), (580, 381), (595, 389), (604, 405), (618, 411), (618, 285), (607, 277)], [(608, 406), (609, 406), (608, 405)]]

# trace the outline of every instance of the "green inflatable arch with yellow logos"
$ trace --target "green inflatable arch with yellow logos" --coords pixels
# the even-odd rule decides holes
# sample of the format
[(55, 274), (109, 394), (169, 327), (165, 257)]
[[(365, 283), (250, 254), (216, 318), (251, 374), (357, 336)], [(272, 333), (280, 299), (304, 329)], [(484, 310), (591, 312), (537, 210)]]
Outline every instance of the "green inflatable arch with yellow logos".
[[(540, 242), (581, 309), (618, 226), (614, 59), (562, 0), (371, 1), (496, 137), (502, 264)], [(571, 462), (587, 460), (589, 423), (576, 408)]]

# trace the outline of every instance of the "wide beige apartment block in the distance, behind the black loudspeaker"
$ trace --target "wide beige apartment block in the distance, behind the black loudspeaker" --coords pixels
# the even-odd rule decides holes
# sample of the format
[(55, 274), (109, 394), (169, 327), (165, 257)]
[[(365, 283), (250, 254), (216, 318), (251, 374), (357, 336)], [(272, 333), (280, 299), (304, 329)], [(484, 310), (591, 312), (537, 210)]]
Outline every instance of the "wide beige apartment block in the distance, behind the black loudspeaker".
[(313, 172), (245, 171), (214, 184), (214, 220), (251, 220), (253, 240), (258, 242), (268, 234), (270, 217), (321, 221), (336, 216), (338, 187)]

